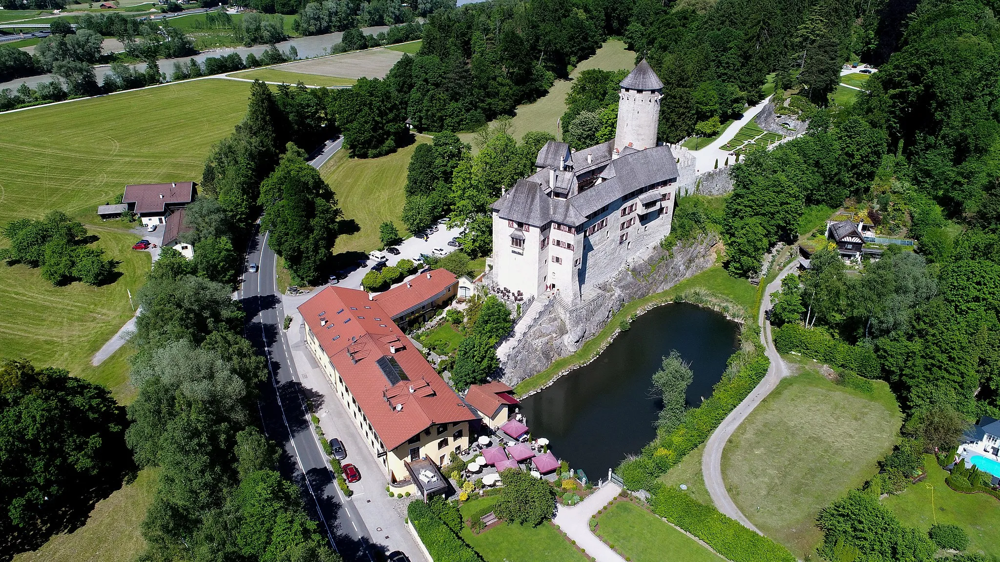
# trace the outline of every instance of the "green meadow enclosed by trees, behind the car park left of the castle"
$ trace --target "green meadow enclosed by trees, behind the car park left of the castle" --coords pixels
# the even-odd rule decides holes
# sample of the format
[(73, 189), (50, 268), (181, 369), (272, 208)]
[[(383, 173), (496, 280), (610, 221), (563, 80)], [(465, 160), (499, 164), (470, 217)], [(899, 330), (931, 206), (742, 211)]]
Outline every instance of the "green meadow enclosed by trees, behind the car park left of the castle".
[(320, 173), (337, 194), (344, 219), (355, 221), (359, 229), (338, 237), (334, 252), (368, 253), (378, 249), (382, 245), (378, 227), (385, 221), (396, 223), (400, 232), (406, 231), (399, 220), (405, 198), (406, 168), (417, 144), (422, 142), (430, 139), (418, 136), (410, 146), (381, 158), (348, 158), (344, 149), (323, 165)]

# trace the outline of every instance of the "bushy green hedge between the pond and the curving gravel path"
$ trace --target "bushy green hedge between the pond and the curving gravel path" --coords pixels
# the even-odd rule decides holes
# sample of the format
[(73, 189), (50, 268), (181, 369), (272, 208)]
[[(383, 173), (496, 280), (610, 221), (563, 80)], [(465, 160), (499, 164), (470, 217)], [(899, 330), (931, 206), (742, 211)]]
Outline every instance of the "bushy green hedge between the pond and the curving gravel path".
[[(745, 337), (756, 338), (753, 327), (744, 330), (748, 332)], [(642, 456), (619, 465), (616, 472), (622, 477), (625, 487), (629, 490), (655, 491), (656, 478), (704, 443), (729, 412), (764, 378), (770, 364), (759, 344), (751, 350), (734, 354), (727, 370), (728, 375), (735, 369), (734, 375), (723, 376), (707, 400), (685, 412), (684, 421), (672, 432), (657, 436), (642, 450)], [(737, 368), (736, 365), (740, 366)]]

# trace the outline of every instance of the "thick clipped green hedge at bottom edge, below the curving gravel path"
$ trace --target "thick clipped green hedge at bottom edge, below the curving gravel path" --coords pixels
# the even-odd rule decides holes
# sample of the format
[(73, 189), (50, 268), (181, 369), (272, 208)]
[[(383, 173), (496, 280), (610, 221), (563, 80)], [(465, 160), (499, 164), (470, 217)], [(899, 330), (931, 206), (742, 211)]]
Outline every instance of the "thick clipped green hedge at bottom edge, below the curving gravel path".
[(705, 541), (732, 562), (796, 562), (785, 547), (673, 488), (662, 488), (650, 506), (654, 513)]

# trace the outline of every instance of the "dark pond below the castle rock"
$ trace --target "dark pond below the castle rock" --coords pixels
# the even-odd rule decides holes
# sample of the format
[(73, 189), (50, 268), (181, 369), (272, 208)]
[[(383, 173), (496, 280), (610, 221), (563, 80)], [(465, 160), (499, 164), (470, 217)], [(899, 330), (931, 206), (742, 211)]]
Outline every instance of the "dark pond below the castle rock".
[(739, 326), (689, 303), (657, 307), (632, 322), (589, 365), (563, 375), (525, 398), (521, 413), (532, 437), (546, 437), (557, 457), (593, 481), (656, 436), (653, 421), (663, 406), (652, 376), (676, 349), (691, 363), (688, 406), (712, 393), (739, 345)]

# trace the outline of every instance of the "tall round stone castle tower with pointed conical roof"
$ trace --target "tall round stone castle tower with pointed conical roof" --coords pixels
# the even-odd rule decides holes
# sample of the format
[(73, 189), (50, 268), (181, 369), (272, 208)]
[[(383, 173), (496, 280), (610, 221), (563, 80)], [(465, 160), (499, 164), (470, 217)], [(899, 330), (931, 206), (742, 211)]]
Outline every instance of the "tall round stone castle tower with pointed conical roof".
[(630, 145), (636, 150), (656, 146), (663, 82), (643, 59), (619, 86), (615, 153)]

